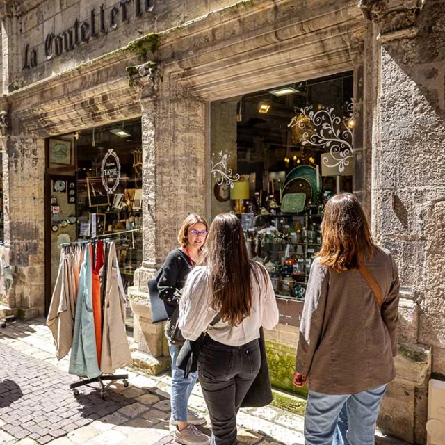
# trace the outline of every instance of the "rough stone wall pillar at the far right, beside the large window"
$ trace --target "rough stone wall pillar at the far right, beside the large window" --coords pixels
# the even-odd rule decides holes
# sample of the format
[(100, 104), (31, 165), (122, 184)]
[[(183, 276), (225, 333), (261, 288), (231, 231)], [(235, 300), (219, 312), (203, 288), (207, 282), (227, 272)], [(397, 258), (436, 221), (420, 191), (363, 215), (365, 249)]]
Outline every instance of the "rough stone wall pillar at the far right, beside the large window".
[(402, 286), (398, 377), (388, 387), (379, 426), (424, 444), (428, 379), (431, 371), (445, 379), (445, 1), (360, 3), (379, 54), (373, 234), (394, 254)]

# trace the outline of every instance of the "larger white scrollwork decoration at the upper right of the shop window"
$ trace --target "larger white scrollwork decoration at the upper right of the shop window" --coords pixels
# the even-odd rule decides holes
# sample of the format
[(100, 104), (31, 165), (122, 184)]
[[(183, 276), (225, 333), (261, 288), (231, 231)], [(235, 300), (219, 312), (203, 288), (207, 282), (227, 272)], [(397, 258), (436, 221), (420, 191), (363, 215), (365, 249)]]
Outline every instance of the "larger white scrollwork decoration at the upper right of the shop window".
[(332, 161), (325, 158), (323, 164), (330, 168), (338, 168), (340, 173), (344, 172), (345, 167), (353, 161), (353, 132), (348, 126), (348, 124), (353, 125), (353, 102), (346, 106), (348, 114), (346, 119), (337, 116), (334, 108), (314, 111), (312, 106), (306, 106), (300, 108), (300, 111), (301, 113), (291, 120), (288, 127), (298, 126), (302, 145), (329, 149)]

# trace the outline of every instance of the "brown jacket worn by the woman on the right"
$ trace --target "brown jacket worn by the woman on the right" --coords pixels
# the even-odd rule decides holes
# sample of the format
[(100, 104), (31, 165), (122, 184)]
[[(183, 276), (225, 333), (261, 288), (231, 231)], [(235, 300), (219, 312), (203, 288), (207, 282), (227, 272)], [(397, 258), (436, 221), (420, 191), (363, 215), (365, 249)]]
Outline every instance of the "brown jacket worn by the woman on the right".
[(312, 264), (296, 359), (311, 391), (356, 394), (396, 377), (397, 267), (381, 248), (364, 264), (382, 291), (381, 311), (358, 270), (337, 273), (318, 258)]

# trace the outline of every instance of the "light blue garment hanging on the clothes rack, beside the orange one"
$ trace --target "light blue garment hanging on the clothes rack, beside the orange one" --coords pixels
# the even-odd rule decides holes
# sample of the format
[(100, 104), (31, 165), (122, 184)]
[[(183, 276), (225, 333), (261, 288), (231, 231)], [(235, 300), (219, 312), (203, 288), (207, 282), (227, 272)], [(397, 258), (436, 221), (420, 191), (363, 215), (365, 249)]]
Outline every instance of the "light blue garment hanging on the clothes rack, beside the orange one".
[(92, 315), (92, 270), (88, 245), (83, 251), (79, 275), (76, 317), (70, 357), (70, 374), (95, 378), (101, 375), (97, 363), (95, 321)]

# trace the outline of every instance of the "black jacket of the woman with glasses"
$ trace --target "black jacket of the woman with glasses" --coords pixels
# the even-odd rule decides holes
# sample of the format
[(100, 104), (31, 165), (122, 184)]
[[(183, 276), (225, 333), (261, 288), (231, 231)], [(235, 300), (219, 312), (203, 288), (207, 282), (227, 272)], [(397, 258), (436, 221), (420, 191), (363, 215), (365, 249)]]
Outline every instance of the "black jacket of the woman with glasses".
[(164, 264), (159, 269), (159, 273), (156, 276), (159, 298), (163, 300), (169, 317), (172, 316), (173, 311), (179, 304), (181, 291), (191, 266), (188, 254), (177, 248), (167, 255)]

